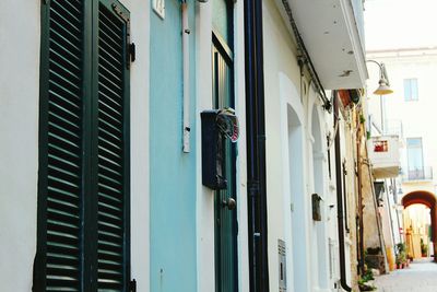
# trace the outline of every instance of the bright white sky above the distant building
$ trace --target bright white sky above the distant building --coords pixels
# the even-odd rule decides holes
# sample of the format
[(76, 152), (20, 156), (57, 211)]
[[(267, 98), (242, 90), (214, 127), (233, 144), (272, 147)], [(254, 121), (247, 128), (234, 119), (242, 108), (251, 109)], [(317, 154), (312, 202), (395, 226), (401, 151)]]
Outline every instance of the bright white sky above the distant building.
[(366, 50), (437, 47), (437, 0), (366, 0)]

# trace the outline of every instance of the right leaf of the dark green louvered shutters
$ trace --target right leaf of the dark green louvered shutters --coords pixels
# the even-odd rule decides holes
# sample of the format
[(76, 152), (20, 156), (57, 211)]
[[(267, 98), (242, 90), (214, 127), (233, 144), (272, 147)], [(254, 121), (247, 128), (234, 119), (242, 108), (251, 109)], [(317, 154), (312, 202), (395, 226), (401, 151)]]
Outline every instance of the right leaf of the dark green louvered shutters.
[(116, 1), (98, 5), (98, 290), (127, 287), (129, 230), (129, 12)]

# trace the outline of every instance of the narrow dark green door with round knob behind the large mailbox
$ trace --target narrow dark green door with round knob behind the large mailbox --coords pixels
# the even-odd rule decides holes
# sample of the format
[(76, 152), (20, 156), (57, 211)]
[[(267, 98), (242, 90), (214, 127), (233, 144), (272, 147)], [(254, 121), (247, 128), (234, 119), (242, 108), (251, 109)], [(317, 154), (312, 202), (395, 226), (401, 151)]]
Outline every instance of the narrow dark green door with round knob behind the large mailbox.
[[(234, 75), (232, 50), (218, 35), (213, 34), (213, 104), (215, 108), (234, 107)], [(215, 219), (215, 291), (238, 291), (237, 221), (235, 187), (235, 144), (223, 138), (224, 177), (227, 188), (216, 190)]]

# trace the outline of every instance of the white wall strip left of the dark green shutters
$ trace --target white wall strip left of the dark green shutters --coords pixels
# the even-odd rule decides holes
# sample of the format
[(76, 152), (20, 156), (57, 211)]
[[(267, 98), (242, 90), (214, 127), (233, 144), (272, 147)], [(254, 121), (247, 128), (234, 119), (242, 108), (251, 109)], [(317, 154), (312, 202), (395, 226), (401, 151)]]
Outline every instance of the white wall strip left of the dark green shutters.
[(0, 282), (31, 291), (36, 252), (39, 1), (0, 3)]

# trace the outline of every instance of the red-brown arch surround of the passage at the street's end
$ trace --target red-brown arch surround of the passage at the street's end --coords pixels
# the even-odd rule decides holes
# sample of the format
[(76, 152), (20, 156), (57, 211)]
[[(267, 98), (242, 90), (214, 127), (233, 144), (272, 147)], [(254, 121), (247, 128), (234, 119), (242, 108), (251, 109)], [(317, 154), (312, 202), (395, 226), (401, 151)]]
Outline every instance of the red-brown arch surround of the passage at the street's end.
[(412, 191), (406, 194), (403, 198), (402, 198), (402, 205), (404, 208), (408, 208), (412, 205), (415, 203), (421, 203), (421, 205), (425, 205), (427, 208), (429, 208), (430, 212), (430, 226), (432, 226), (432, 236), (430, 240), (433, 242), (433, 246), (434, 246), (434, 261), (436, 261), (436, 232), (437, 232), (437, 208), (436, 208), (436, 197), (429, 192), (429, 191), (425, 191), (425, 190), (416, 190), (416, 191)]

